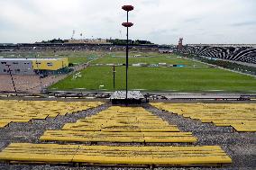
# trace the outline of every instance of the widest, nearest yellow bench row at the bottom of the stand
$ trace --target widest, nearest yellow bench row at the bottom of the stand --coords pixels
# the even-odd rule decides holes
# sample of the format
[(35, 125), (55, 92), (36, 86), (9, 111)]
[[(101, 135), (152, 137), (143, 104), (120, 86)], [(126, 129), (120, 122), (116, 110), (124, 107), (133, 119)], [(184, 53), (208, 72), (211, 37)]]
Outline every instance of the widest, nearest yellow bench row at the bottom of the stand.
[(232, 163), (218, 146), (203, 147), (115, 147), (12, 143), (0, 160), (42, 163), (103, 165), (216, 165)]

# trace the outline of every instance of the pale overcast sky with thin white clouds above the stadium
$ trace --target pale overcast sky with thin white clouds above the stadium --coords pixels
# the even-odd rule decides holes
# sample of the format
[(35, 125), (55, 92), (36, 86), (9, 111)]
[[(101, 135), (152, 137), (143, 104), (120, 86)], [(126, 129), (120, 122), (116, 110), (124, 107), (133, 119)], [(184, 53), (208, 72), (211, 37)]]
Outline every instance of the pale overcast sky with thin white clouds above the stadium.
[(125, 39), (123, 4), (133, 4), (131, 38), (160, 44), (256, 43), (256, 0), (0, 0), (0, 43), (53, 38)]

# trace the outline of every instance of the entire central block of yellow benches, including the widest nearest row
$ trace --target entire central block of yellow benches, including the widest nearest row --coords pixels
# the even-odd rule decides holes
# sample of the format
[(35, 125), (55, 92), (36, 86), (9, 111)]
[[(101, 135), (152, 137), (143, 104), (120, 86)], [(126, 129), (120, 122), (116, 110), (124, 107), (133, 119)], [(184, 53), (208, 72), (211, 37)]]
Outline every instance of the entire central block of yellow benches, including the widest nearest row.
[[(179, 132), (176, 126), (169, 125), (167, 121), (161, 120), (142, 107), (112, 106), (68, 125), (66, 124), (62, 130), (45, 131), (41, 140), (66, 142), (193, 142), (197, 140), (191, 132)], [(86, 146), (52, 143), (11, 143), (0, 152), (0, 160), (16, 163), (115, 166), (213, 166), (232, 163), (232, 159), (218, 146)]]

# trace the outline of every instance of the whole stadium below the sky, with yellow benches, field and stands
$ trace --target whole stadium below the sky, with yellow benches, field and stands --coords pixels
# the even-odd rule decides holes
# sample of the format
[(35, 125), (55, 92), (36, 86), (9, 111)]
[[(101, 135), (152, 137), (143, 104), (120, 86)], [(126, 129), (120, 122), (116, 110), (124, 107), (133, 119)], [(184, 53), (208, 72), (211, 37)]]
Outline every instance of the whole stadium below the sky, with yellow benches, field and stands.
[(0, 44), (0, 169), (255, 169), (256, 44), (130, 40), (119, 7), (125, 40)]

